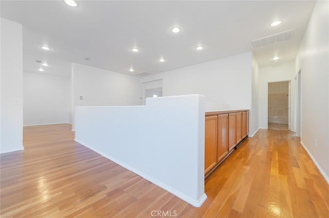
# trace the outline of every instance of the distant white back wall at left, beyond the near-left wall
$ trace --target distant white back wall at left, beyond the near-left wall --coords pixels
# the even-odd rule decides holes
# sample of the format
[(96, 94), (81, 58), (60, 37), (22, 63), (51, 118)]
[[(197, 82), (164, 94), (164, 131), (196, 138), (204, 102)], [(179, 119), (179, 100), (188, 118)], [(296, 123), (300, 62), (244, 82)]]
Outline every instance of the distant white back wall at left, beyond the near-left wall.
[(69, 78), (23, 72), (23, 125), (68, 123)]

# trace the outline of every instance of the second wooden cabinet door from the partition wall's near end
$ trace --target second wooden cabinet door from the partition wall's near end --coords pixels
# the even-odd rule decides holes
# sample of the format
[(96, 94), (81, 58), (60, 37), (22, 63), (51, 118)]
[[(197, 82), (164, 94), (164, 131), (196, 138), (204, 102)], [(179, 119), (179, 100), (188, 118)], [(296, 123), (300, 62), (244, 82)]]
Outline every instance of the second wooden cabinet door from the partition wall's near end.
[(218, 115), (217, 162), (228, 153), (228, 114)]

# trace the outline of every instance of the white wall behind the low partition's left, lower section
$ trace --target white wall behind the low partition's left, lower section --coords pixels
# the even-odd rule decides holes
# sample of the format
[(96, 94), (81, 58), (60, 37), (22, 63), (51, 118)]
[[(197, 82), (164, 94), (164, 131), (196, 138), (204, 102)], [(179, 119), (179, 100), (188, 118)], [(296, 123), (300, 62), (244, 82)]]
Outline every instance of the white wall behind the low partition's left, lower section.
[[(142, 84), (136, 76), (72, 63), (72, 129), (76, 106), (142, 105)], [(80, 96), (83, 100), (80, 100)]]

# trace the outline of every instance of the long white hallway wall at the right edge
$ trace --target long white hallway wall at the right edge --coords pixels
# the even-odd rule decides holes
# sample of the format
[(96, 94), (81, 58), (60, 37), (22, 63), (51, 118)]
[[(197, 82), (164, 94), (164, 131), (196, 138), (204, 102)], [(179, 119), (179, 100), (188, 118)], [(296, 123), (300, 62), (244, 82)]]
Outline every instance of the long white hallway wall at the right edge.
[(317, 1), (298, 52), (295, 72), (301, 70), (301, 141), (329, 183), (328, 8), (328, 1)]

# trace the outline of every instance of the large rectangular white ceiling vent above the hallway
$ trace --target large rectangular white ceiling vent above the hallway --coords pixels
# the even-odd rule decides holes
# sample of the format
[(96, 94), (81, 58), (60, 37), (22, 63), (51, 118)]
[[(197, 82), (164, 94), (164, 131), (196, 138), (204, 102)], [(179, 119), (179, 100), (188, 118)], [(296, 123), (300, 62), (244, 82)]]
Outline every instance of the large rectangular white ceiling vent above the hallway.
[(262, 46), (280, 43), (280, 42), (292, 39), (294, 37), (294, 33), (295, 33), (295, 29), (291, 29), (291, 30), (281, 32), (278, 34), (269, 35), (269, 36), (266, 36), (263, 38), (255, 39), (254, 41), (251, 41), (251, 43), (254, 48), (259, 48)]

